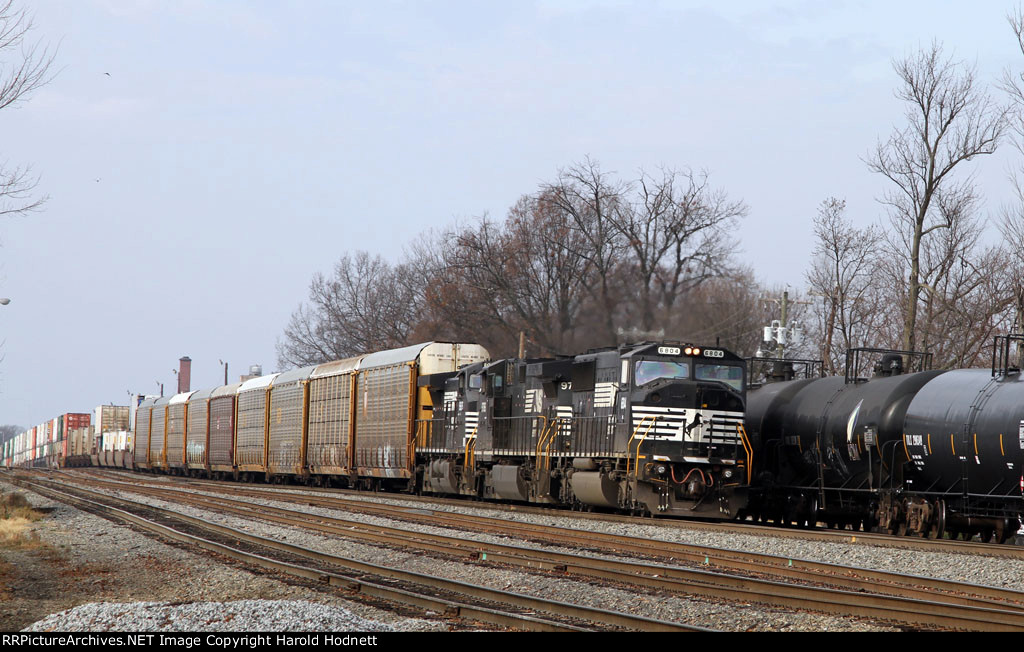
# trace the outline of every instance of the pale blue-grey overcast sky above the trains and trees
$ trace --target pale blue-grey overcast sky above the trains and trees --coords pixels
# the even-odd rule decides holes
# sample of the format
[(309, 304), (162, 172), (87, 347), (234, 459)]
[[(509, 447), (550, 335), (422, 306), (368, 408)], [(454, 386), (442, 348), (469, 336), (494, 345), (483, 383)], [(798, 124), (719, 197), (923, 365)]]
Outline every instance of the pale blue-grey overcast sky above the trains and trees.
[[(723, 6), (724, 5), (724, 6)], [(892, 59), (933, 39), (1024, 68), (1004, 2), (33, 0), (53, 82), (0, 112), (0, 162), (50, 199), (0, 222), (0, 424), (274, 371), (316, 271), (396, 260), (589, 156), (703, 169), (743, 200), (741, 257), (801, 288), (835, 195), (903, 107)], [(109, 75), (108, 75), (109, 73)], [(972, 165), (1009, 199), (1010, 148)]]

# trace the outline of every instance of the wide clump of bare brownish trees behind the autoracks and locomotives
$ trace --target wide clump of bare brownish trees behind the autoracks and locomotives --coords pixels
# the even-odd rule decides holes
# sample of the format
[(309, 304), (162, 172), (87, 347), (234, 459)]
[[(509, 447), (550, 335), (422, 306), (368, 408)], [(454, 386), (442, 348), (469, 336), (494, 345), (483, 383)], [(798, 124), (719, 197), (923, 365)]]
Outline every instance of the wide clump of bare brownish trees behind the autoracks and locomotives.
[(520, 198), (504, 220), (484, 215), (418, 236), (399, 266), (346, 255), (333, 278), (313, 278), (279, 342), (280, 362), (411, 338), (514, 355), (520, 333), (529, 354), (563, 353), (613, 344), (638, 313), (647, 331), (694, 328), (685, 317), (700, 310), (681, 319), (676, 308), (732, 269), (726, 229), (745, 210), (706, 174), (622, 182), (587, 160)]

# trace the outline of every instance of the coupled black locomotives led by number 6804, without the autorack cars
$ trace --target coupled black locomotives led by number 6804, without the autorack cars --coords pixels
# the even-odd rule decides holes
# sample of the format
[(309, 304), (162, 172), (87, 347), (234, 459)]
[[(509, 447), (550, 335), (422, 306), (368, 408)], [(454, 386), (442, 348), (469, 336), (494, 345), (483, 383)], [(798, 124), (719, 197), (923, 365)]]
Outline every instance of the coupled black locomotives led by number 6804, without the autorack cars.
[(645, 343), (423, 376), (431, 493), (734, 518), (745, 505), (744, 362)]

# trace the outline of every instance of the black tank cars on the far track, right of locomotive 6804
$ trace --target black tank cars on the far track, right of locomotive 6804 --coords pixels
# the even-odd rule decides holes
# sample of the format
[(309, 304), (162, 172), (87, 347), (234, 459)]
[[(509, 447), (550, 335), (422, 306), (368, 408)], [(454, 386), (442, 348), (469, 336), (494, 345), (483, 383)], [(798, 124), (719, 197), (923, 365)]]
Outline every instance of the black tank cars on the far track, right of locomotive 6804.
[[(996, 338), (991, 370), (929, 371), (884, 352), (870, 379), (848, 353), (845, 378), (749, 392), (759, 457), (750, 514), (776, 522), (1006, 541), (1024, 514), (1024, 381)], [(916, 357), (915, 357), (916, 356)], [(919, 371), (904, 373), (904, 360)], [(851, 371), (853, 370), (853, 371)]]

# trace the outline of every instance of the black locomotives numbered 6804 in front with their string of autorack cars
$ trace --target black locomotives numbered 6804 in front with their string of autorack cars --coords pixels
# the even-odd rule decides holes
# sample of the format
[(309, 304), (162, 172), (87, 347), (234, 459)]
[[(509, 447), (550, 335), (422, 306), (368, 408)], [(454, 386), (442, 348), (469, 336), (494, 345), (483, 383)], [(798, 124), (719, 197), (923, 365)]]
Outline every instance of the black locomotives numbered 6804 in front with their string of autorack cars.
[(646, 343), (490, 360), (426, 343), (148, 398), (143, 470), (733, 518), (744, 362)]

